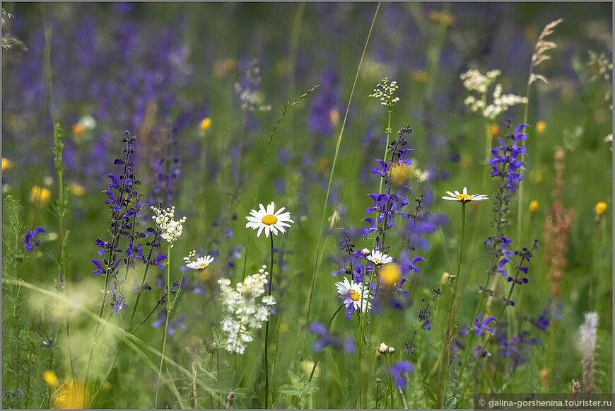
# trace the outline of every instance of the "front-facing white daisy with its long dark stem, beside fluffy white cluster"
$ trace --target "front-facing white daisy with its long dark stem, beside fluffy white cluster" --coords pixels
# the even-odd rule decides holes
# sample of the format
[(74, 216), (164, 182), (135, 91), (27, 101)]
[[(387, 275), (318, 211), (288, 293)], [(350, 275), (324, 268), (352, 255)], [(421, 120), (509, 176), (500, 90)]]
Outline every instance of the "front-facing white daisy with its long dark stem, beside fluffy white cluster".
[[(258, 230), (257, 237), (261, 235), (263, 230), (265, 231), (265, 236), (269, 237), (269, 233), (271, 235), (271, 265), (269, 265), (269, 269), (271, 270), (271, 276), (269, 277), (269, 290), (267, 291), (267, 296), (271, 298), (271, 282), (274, 278), (274, 236), (278, 235), (278, 232), (286, 233), (286, 229), (284, 227), (290, 227), (291, 224), (295, 221), (291, 220), (291, 213), (283, 212), (284, 207), (276, 211), (276, 204), (271, 202), (271, 204), (267, 205), (267, 208), (263, 207), (263, 204), (259, 204), (258, 210), (250, 211), (250, 215), (245, 217), (247, 219), (247, 224), (245, 224), (246, 228), (252, 228), (253, 230)], [(269, 317), (267, 317), (265, 325), (265, 408), (269, 408), (269, 357), (268, 357), (268, 348), (269, 348)]]

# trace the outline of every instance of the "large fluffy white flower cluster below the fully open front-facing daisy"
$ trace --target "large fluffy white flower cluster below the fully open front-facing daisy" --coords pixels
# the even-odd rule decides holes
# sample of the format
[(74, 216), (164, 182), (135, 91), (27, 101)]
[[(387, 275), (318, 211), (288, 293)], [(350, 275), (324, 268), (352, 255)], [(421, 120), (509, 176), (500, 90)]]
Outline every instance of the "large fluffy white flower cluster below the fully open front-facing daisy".
[(222, 320), (222, 330), (226, 334), (226, 350), (243, 354), (248, 342), (254, 340), (252, 330), (262, 328), (262, 323), (269, 317), (269, 310), (274, 306), (274, 296), (264, 296), (260, 302), (257, 299), (265, 292), (266, 265), (257, 274), (239, 282), (233, 289), (230, 279), (218, 279), (220, 298), (225, 312)]

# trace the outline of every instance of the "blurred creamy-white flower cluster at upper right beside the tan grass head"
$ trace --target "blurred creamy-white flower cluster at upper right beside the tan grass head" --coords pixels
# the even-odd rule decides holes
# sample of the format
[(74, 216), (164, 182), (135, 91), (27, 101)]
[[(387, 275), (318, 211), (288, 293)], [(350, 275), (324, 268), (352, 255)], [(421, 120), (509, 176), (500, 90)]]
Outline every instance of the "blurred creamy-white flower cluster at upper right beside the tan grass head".
[(476, 69), (469, 69), (467, 72), (459, 76), (464, 81), (464, 87), (469, 91), (477, 91), (481, 94), (481, 99), (477, 99), (474, 95), (469, 95), (464, 104), (468, 105), (470, 110), (480, 111), (483, 117), (489, 120), (495, 120), (500, 113), (508, 110), (510, 106), (520, 103), (527, 104), (527, 97), (521, 97), (515, 94), (502, 94), (502, 85), (496, 84), (493, 90), (493, 103), (487, 105), (486, 94), (488, 87), (501, 74), (500, 70), (491, 70), (483, 75)]

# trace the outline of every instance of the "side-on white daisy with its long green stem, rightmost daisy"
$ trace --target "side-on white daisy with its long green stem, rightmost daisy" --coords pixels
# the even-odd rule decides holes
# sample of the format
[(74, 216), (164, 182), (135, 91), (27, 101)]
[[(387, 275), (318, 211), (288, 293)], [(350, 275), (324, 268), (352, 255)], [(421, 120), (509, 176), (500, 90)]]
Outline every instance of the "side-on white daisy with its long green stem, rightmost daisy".
[(447, 199), (450, 201), (457, 201), (462, 204), (462, 234), (461, 234), (461, 243), (459, 245), (459, 258), (457, 259), (457, 274), (454, 278), (451, 279), (455, 284), (452, 288), (452, 297), (450, 300), (450, 306), (448, 310), (448, 321), (446, 326), (446, 335), (443, 344), (442, 350), (442, 358), (440, 359), (440, 374), (438, 375), (438, 396), (436, 398), (436, 406), (441, 407), (443, 404), (443, 400), (446, 394), (446, 386), (444, 381), (445, 371), (449, 368), (450, 365), (450, 340), (452, 337), (452, 328), (455, 323), (455, 313), (457, 311), (457, 291), (459, 286), (459, 273), (461, 272), (461, 262), (463, 256), (464, 249), (464, 235), (466, 229), (466, 204), (471, 201), (481, 201), (484, 199), (488, 199), (486, 195), (474, 194), (469, 195), (467, 187), (464, 187), (463, 192), (450, 192), (447, 191), (447, 196), (443, 196), (443, 199)]

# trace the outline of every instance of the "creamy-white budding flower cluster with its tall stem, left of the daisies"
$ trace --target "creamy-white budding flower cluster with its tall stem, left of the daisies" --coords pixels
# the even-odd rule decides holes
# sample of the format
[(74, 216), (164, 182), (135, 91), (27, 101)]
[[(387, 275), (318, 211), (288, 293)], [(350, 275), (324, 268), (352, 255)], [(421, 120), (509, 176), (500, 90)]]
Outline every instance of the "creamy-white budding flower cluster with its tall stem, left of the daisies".
[[(173, 241), (177, 241), (182, 232), (184, 231), (183, 224), (186, 222), (186, 217), (182, 217), (180, 220), (175, 221), (175, 206), (167, 209), (158, 209), (157, 207), (150, 207), (154, 212), (152, 219), (156, 222), (156, 226), (160, 228), (160, 236), (167, 241), (167, 294), (163, 297), (163, 301), (167, 304), (167, 316), (165, 320), (165, 337), (163, 340), (163, 351), (160, 357), (160, 368), (158, 369), (158, 383), (156, 383), (156, 397), (154, 398), (154, 406), (158, 405), (158, 388), (160, 388), (160, 375), (163, 371), (163, 361), (165, 359), (165, 347), (167, 345), (167, 335), (169, 331), (169, 317), (173, 310), (173, 305), (177, 296), (180, 294), (179, 289), (175, 293), (175, 299), (172, 303), (169, 303), (170, 291), (171, 291), (171, 248), (173, 247)], [(181, 282), (180, 282), (181, 284)]]

